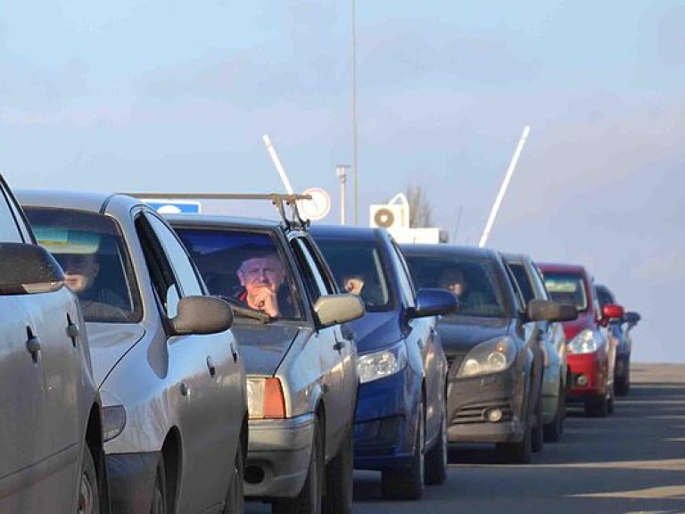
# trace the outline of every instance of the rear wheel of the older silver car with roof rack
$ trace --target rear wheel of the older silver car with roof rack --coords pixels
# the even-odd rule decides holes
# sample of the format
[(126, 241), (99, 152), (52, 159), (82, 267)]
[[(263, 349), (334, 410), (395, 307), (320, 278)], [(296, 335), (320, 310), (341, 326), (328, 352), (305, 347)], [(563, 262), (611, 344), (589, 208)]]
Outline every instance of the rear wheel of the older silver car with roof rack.
[(323, 512), (326, 514), (350, 514), (354, 483), (354, 431), (348, 430), (340, 452), (326, 467), (326, 496)]

